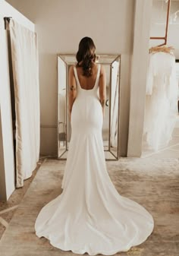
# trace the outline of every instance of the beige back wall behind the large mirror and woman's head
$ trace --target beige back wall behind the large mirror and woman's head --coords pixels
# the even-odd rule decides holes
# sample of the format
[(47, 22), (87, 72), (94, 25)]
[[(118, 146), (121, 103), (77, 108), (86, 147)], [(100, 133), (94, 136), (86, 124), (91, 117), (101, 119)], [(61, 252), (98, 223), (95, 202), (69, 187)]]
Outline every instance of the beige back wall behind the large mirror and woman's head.
[(121, 53), (121, 155), (127, 154), (133, 0), (8, 0), (39, 35), (41, 154), (57, 154), (57, 57), (90, 36), (98, 53)]

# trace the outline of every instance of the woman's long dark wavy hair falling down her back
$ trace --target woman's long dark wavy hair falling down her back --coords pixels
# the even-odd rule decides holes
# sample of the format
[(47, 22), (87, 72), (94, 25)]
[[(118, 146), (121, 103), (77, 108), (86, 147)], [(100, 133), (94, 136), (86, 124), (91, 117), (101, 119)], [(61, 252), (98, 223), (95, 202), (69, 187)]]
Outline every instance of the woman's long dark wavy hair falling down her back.
[[(93, 40), (86, 36), (80, 40), (77, 51), (77, 66), (83, 68), (83, 75), (89, 77), (92, 75), (93, 62), (96, 61), (96, 46)], [(82, 64), (79, 63), (82, 61)]]

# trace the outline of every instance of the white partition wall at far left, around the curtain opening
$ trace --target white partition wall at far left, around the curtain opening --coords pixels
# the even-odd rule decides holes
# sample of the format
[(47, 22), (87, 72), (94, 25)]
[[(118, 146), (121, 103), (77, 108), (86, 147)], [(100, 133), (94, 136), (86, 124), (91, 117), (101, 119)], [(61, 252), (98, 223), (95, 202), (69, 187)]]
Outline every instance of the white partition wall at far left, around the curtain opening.
[(15, 187), (8, 38), (3, 17), (13, 17), (17, 22), (24, 24), (31, 30), (35, 30), (35, 27), (11, 5), (0, 0), (0, 200), (6, 201)]

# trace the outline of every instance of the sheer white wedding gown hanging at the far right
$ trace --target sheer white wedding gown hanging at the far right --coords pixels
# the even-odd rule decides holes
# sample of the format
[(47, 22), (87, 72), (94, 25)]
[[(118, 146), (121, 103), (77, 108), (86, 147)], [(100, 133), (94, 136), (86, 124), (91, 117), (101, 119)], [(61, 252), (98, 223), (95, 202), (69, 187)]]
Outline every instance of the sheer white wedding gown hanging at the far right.
[(171, 140), (177, 121), (178, 84), (175, 57), (166, 52), (149, 55), (144, 134), (149, 147), (159, 150)]

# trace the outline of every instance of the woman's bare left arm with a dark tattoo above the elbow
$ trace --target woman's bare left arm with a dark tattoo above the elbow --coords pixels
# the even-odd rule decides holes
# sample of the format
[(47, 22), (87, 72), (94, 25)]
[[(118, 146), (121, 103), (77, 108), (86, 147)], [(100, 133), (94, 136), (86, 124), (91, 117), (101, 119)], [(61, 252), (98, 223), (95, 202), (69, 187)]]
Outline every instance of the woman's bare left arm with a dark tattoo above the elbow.
[(69, 93), (68, 93), (68, 112), (70, 115), (71, 119), (71, 110), (72, 106), (74, 104), (74, 100), (77, 96), (77, 84), (74, 76), (74, 66), (71, 65), (69, 69), (69, 74), (68, 74), (68, 86), (69, 86)]

